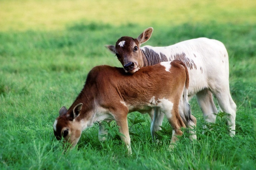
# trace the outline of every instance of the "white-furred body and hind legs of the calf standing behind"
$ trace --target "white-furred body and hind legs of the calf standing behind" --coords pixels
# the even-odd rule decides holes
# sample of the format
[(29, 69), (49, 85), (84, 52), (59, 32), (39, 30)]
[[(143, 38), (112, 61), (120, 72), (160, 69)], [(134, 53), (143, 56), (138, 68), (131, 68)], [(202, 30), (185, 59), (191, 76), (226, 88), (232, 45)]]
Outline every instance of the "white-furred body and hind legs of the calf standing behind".
[[(213, 113), (218, 112), (212, 98), (212, 95), (215, 95), (220, 109), (230, 114), (228, 116), (228, 124), (231, 126), (230, 136), (235, 135), (236, 104), (229, 91), (228, 52), (222, 42), (198, 38), (167, 47), (143, 46), (141, 49), (145, 47), (154, 50), (159, 56), (161, 52), (169, 61), (175, 60), (174, 56), (185, 54), (186, 59), (196, 66), (196, 68), (188, 67), (189, 98), (196, 95), (206, 121), (214, 123), (216, 116)], [(166, 67), (166, 64), (162, 65)]]

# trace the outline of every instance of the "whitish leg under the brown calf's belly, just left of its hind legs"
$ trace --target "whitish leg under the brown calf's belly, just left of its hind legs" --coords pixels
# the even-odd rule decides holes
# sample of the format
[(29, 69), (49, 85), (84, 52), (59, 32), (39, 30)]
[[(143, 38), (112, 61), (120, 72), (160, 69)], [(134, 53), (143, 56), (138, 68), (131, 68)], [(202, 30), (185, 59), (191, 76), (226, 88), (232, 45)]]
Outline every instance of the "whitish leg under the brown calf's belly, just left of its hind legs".
[(156, 135), (156, 132), (161, 130), (160, 126), (162, 125), (163, 119), (164, 119), (164, 113), (162, 113), (158, 107), (155, 108), (154, 118), (153, 118), (153, 121), (151, 122), (151, 127), (150, 127), (153, 141), (158, 140), (158, 136)]

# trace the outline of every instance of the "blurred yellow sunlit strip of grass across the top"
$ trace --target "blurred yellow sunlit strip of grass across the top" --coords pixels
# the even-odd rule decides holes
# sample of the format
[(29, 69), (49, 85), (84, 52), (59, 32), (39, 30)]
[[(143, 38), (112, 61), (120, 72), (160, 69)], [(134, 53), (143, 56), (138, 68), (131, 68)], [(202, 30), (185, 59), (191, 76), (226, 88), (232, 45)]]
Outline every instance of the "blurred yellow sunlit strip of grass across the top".
[(0, 31), (64, 29), (74, 22), (177, 25), (184, 22), (256, 23), (255, 0), (2, 0)]

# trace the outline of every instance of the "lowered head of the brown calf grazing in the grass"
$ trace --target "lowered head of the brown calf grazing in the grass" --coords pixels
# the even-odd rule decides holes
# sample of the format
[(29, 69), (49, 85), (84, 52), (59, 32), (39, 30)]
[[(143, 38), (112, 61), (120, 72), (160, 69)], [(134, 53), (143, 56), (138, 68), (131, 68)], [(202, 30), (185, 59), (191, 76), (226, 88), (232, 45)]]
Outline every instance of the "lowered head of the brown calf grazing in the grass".
[(63, 138), (63, 142), (69, 142), (74, 147), (81, 136), (82, 127), (79, 115), (82, 109), (82, 103), (77, 104), (73, 109), (66, 109), (64, 106), (59, 110), (59, 117), (53, 124), (54, 135), (57, 140)]

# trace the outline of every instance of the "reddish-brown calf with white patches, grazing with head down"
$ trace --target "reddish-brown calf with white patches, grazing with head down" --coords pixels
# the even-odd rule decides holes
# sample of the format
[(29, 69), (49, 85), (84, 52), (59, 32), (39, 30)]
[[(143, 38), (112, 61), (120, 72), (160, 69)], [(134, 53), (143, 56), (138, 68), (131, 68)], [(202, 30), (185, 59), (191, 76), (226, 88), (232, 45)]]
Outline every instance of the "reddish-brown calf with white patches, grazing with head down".
[[(99, 139), (106, 135), (102, 121), (116, 120), (122, 141), (129, 152), (130, 136), (127, 114), (141, 113), (157, 108), (164, 113), (173, 128), (171, 143), (182, 135), (181, 128), (196, 126), (188, 103), (188, 72), (180, 61), (162, 62), (155, 66), (143, 67), (134, 74), (127, 74), (123, 68), (111, 66), (94, 67), (88, 74), (84, 88), (69, 109), (60, 108), (59, 117), (53, 124), (57, 139), (64, 138), (75, 146), (81, 133), (98, 122)], [(183, 96), (183, 97), (182, 97)], [(179, 108), (183, 112), (179, 113)], [(151, 135), (159, 129), (158, 112), (151, 124)], [(190, 130), (191, 138), (196, 138)]]

